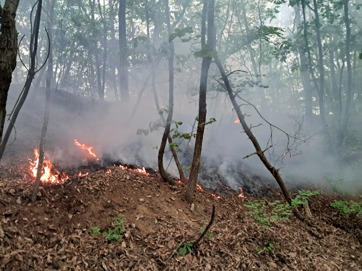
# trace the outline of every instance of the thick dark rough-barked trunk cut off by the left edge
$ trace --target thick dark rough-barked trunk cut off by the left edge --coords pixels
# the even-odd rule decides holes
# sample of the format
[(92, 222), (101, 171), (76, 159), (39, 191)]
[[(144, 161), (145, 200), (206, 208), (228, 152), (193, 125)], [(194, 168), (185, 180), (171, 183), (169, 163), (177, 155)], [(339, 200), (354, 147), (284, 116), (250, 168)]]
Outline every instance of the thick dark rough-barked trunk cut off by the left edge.
[(15, 25), (15, 13), (20, 0), (5, 1), (4, 8), (0, 4), (0, 147), (6, 116), (6, 101), (16, 67), (18, 50), (18, 32)]

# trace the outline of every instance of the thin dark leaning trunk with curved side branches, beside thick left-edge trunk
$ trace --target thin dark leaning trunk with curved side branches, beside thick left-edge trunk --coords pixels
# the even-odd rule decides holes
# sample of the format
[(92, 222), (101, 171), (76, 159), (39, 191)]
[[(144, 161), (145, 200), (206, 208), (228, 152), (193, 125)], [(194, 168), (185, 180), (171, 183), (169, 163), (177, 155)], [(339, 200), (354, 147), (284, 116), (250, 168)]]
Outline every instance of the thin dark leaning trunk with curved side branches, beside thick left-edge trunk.
[[(1, 146), (1, 149), (0, 149), (0, 160), (2, 159), (2, 157), (4, 155), (5, 147), (6, 147), (6, 144), (7, 144), (8, 140), (9, 140), (11, 131), (13, 130), (13, 127), (14, 127), (15, 121), (17, 119), (17, 116), (18, 116), (18, 114), (20, 112), (20, 109), (21, 109), (22, 105), (24, 104), (25, 99), (28, 96), (29, 89), (30, 89), (30, 87), (32, 85), (32, 82), (33, 82), (34, 75), (37, 72), (36, 67), (35, 67), (35, 61), (36, 61), (36, 53), (37, 53), (37, 50), (38, 50), (38, 36), (39, 36), (39, 25), (40, 25), (40, 15), (41, 15), (42, 2), (43, 2), (42, 0), (39, 0), (39, 2), (38, 2), (38, 7), (37, 7), (37, 10), (36, 10), (36, 15), (35, 15), (35, 19), (34, 19), (33, 33), (32, 33), (31, 38), (30, 38), (30, 68), (29, 68), (29, 71), (28, 71), (27, 80), (25, 81), (24, 90), (23, 90), (23, 93), (21, 95), (21, 98), (20, 98), (18, 104), (15, 107), (15, 110), (14, 110), (13, 115), (11, 117), (9, 126), (6, 129), (5, 136), (4, 136), (2, 146)], [(1, 86), (0, 86), (0, 88), (1, 88)], [(5, 109), (4, 109), (4, 111), (5, 111)]]

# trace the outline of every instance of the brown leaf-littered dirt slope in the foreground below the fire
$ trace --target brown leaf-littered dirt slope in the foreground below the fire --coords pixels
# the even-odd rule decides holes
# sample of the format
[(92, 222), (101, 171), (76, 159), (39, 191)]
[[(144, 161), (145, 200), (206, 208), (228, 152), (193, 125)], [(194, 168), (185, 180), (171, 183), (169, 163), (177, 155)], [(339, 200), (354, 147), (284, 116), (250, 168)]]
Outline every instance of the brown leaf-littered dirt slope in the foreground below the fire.
[[(9, 170), (10, 167), (10, 170)], [(77, 171), (63, 183), (42, 182), (35, 204), (33, 180), (15, 164), (0, 169), (0, 266), (3, 270), (359, 270), (361, 225), (329, 206), (333, 197), (309, 201), (312, 226), (290, 220), (264, 229), (246, 214), (242, 189), (220, 197), (199, 186), (193, 206), (185, 184), (167, 185), (144, 168), (114, 166)], [(281, 196), (275, 191), (277, 196)], [(174, 253), (197, 238), (216, 205), (212, 234), (194, 254)], [(190, 209), (191, 207), (191, 209)], [(107, 232), (113, 218), (126, 221), (119, 241), (91, 234)], [(333, 225), (333, 226), (332, 226)], [(265, 244), (274, 249), (258, 253)], [(173, 254), (174, 253), (174, 254)], [(227, 255), (227, 256), (226, 256)], [(170, 258), (170, 256), (172, 256)], [(170, 259), (169, 259), (170, 258)], [(331, 264), (332, 263), (332, 264)]]

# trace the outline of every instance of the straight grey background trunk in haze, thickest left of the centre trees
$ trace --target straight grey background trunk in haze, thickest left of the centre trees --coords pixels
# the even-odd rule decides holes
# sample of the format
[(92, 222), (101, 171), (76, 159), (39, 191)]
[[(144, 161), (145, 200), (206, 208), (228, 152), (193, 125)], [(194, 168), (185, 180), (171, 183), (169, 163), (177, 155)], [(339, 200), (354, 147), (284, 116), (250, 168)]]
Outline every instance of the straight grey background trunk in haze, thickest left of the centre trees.
[(127, 103), (130, 99), (128, 93), (128, 52), (127, 52), (127, 36), (126, 36), (126, 1), (119, 0), (119, 80), (121, 86), (121, 101)]

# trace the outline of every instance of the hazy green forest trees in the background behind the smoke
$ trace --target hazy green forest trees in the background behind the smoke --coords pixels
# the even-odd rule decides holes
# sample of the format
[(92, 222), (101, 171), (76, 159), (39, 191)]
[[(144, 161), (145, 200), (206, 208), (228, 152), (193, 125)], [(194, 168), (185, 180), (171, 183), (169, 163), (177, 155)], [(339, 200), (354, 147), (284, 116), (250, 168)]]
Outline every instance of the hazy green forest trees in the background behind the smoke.
[[(44, 10), (41, 17), (37, 61), (40, 65), (47, 56), (44, 26), (51, 16), (53, 89), (87, 96), (92, 102), (117, 102), (115, 107), (122, 109), (123, 118), (131, 121), (138, 115), (137, 121), (144, 121), (134, 124), (138, 126), (132, 131), (133, 136), (138, 130), (144, 137), (162, 126), (157, 111), (167, 112), (169, 41), (172, 40), (173, 120), (188, 119), (192, 125), (198, 115), (202, 3), (169, 1), (167, 11), (164, 1), (156, 0), (50, 2), (51, 14)], [(17, 11), (17, 29), (20, 36), (25, 35), (19, 47), (23, 60), (29, 57), (33, 4), (20, 1)], [(334, 0), (215, 2), (215, 54), (226, 73), (230, 73), (232, 88), (245, 100), (238, 100), (239, 104), (253, 126), (266, 124), (267, 119), (303, 140), (294, 142), (285, 151), (288, 138), (285, 134), (278, 135), (273, 128), (274, 142), (279, 144), (273, 146), (276, 150), (268, 150), (269, 159), (277, 168), (284, 167), (286, 158), (294, 158), (289, 169), (300, 178), (304, 174), (311, 178), (321, 171), (319, 179), (357, 182), (362, 174), (361, 5), (358, 1)], [(119, 20), (124, 17), (125, 25)], [(122, 35), (124, 27), (126, 36)], [(39, 87), (45, 87), (45, 74), (45, 68), (36, 74), (33, 95)], [(26, 77), (27, 71), (18, 63), (13, 84), (22, 84)], [(220, 77), (212, 62), (206, 119), (217, 121), (210, 126), (210, 134), (214, 136), (211, 140), (227, 144), (228, 133), (239, 137), (239, 130), (233, 133), (221, 128), (217, 136), (220, 124), (227, 123), (225, 129), (229, 129), (238, 119)], [(160, 105), (155, 105), (155, 98)], [(157, 110), (153, 109), (157, 106)], [(153, 115), (149, 115), (147, 112), (152, 109)], [(189, 126), (180, 129), (190, 132)], [(268, 125), (253, 128), (266, 148), (270, 143), (270, 128)], [(207, 132), (205, 138), (208, 139)], [(188, 143), (193, 144), (193, 139)], [(231, 148), (237, 143), (232, 143)], [(186, 145), (184, 141), (179, 149), (187, 149)], [(251, 146), (247, 141), (241, 145)], [(226, 155), (223, 151), (218, 148), (221, 157)], [(252, 149), (239, 156), (250, 152)], [(208, 147), (203, 153), (210, 154)], [(295, 158), (297, 154), (303, 158)], [(308, 166), (313, 170), (306, 173), (306, 167), (299, 164), (301, 159), (309, 160)], [(255, 160), (252, 161), (254, 164)], [(323, 164), (326, 161), (329, 164)], [(183, 166), (189, 166), (185, 163)], [(175, 165), (173, 169), (176, 170)]]

